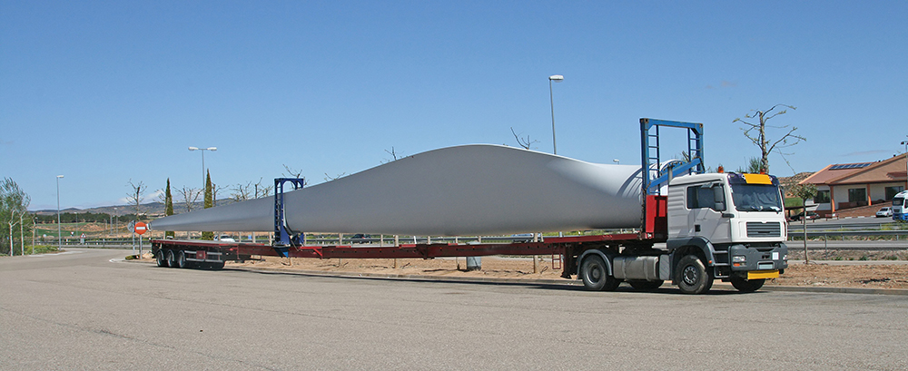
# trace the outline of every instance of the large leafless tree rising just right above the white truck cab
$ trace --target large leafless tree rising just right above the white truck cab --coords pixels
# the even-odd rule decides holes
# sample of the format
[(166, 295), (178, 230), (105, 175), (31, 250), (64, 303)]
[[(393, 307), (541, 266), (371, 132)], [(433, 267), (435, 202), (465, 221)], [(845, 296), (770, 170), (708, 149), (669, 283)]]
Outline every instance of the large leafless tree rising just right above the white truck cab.
[[(747, 137), (747, 139), (749, 139), (751, 142), (754, 142), (754, 144), (760, 148), (760, 152), (761, 152), (760, 168), (761, 168), (761, 170), (764, 170), (767, 172), (769, 171), (769, 153), (772, 153), (773, 151), (775, 151), (776, 153), (779, 153), (780, 155), (782, 155), (782, 158), (785, 159), (785, 156), (790, 155), (791, 153), (783, 153), (782, 152), (783, 148), (788, 148), (788, 147), (794, 146), (795, 144), (797, 144), (801, 141), (806, 141), (806, 139), (803, 136), (795, 134), (795, 131), (797, 130), (797, 128), (794, 126), (790, 126), (790, 125), (768, 126), (769, 128), (780, 129), (780, 130), (785, 131), (785, 135), (782, 135), (781, 138), (779, 138), (778, 140), (775, 140), (775, 141), (770, 140), (769, 138), (766, 137), (766, 128), (767, 128), (766, 122), (769, 121), (770, 119), (774, 118), (775, 116), (778, 116), (780, 114), (785, 114), (785, 112), (787, 112), (785, 109), (783, 109), (782, 111), (774, 112), (775, 109), (778, 107), (791, 108), (792, 110), (797, 109), (795, 106), (791, 106), (791, 105), (776, 104), (772, 108), (770, 108), (766, 111), (756, 111), (755, 110), (744, 116), (745, 119), (748, 119), (748, 120), (757, 119), (757, 120), (759, 120), (758, 123), (746, 122), (744, 119), (741, 119), (741, 118), (737, 118), (737, 119), (735, 119), (735, 121), (733, 121), (733, 122), (742, 122), (747, 126), (746, 128), (741, 128), (741, 130), (744, 131), (744, 136)], [(770, 143), (770, 142), (772, 142), (772, 143)], [(785, 159), (785, 161), (787, 162), (788, 160)]]

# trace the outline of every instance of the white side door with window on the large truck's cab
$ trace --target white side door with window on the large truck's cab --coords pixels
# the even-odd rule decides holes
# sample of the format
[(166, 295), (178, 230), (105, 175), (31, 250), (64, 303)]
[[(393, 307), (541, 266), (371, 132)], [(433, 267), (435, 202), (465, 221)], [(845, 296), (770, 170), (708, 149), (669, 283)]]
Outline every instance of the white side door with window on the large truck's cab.
[(723, 217), (726, 210), (725, 187), (721, 183), (691, 185), (686, 190), (687, 227), (689, 236), (699, 236), (712, 243), (731, 239), (731, 220)]

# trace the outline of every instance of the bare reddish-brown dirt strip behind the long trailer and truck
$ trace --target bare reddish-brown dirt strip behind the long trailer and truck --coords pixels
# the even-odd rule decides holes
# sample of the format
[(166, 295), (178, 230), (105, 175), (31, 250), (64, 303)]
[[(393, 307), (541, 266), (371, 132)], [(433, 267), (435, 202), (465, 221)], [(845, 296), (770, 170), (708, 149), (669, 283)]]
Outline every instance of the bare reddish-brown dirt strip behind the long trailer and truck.
[[(793, 251), (794, 253), (794, 251)], [(766, 285), (814, 286), (830, 288), (908, 288), (908, 265), (896, 264), (908, 259), (908, 252), (892, 251), (811, 251), (811, 259), (849, 260), (854, 265), (814, 263), (804, 264), (803, 255), (793, 254), (789, 267), (780, 278), (766, 281)], [(797, 260), (800, 259), (800, 260)], [(867, 264), (861, 264), (864, 260)], [(881, 264), (882, 263), (882, 264)], [(482, 269), (466, 270), (466, 260), (459, 259), (279, 259), (264, 257), (242, 263), (228, 263), (228, 267), (290, 268), (299, 270), (373, 273), (388, 275), (419, 275), (439, 277), (488, 277), (563, 279), (560, 268), (552, 267), (550, 257), (539, 259), (538, 273), (533, 273), (533, 260), (528, 258), (482, 258)]]

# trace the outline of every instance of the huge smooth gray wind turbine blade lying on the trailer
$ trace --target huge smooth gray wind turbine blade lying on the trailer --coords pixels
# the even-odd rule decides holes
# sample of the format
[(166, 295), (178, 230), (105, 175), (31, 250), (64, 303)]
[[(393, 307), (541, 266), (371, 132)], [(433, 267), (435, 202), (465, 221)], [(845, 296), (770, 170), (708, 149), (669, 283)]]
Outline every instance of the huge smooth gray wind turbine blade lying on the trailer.
[[(284, 195), (306, 232), (430, 236), (635, 228), (639, 166), (597, 164), (507, 146), (442, 148)], [(272, 198), (153, 220), (156, 230), (270, 231)]]

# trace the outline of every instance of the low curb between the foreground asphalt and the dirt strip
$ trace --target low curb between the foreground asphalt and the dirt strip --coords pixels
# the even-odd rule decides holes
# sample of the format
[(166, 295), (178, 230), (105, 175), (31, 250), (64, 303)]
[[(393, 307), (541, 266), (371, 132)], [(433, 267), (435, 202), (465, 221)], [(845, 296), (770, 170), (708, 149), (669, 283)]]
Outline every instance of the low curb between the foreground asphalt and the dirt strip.
[[(127, 263), (144, 263), (154, 264), (148, 261), (123, 260)], [(371, 278), (371, 279), (395, 279), (411, 280), (426, 282), (454, 282), (454, 283), (478, 283), (478, 284), (506, 284), (506, 285), (546, 285), (546, 286), (564, 286), (564, 287), (583, 287), (583, 282), (579, 279), (528, 279), (528, 278), (484, 278), (484, 277), (445, 277), (445, 276), (423, 276), (423, 275), (405, 275), (405, 274), (381, 274), (381, 273), (346, 273), (346, 272), (326, 272), (323, 270), (300, 270), (288, 268), (250, 268), (250, 267), (230, 267), (228, 269), (243, 270), (257, 273), (282, 273), (293, 274), (298, 276), (309, 277), (326, 277), (326, 278)], [(731, 284), (725, 282), (716, 282), (717, 286), (731, 288)], [(667, 287), (665, 287), (667, 288)], [(714, 286), (713, 288), (716, 288)], [(908, 296), (908, 289), (905, 288), (817, 288), (807, 286), (773, 286), (766, 285), (760, 288), (760, 291), (781, 291), (781, 292), (814, 292), (827, 294), (861, 294), (861, 295), (896, 295)]]

